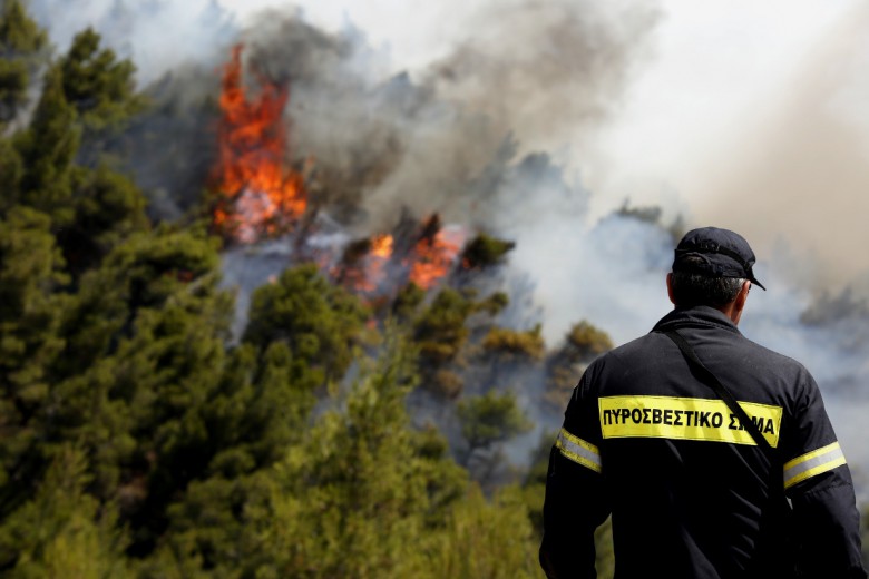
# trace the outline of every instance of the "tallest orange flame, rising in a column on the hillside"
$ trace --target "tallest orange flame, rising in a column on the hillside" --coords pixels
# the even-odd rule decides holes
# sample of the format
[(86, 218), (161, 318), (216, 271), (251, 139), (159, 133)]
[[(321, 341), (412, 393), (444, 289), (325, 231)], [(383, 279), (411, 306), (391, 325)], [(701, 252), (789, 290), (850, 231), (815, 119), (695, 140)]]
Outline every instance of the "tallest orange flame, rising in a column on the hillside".
[(248, 101), (241, 55), (241, 45), (235, 46), (223, 72), (218, 189), (225, 197), (214, 223), (251, 243), (291, 227), (304, 213), (306, 198), (301, 175), (284, 167), (286, 129), (281, 116), (289, 91), (265, 82), (258, 98)]

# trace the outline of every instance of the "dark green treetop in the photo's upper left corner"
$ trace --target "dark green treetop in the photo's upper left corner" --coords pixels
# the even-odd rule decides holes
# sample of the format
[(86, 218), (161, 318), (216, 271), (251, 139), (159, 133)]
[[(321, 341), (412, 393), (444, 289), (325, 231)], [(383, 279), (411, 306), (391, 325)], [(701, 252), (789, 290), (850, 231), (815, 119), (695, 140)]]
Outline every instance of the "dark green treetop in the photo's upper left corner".
[(46, 47), (46, 32), (21, 1), (6, 0), (0, 13), (0, 127), (27, 104), (31, 77), (45, 59)]

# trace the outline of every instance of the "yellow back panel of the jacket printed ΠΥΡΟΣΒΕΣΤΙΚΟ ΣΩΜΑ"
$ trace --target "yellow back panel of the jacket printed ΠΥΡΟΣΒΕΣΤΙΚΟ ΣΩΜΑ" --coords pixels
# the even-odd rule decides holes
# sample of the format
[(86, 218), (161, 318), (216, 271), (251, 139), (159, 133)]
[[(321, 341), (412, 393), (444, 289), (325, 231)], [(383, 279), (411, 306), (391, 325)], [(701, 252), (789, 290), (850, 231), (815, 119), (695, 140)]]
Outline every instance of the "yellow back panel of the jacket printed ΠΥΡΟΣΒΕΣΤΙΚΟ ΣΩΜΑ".
[[(740, 402), (770, 445), (779, 445), (782, 408)], [(605, 439), (657, 438), (756, 445), (723, 400), (675, 396), (604, 396), (598, 400)]]

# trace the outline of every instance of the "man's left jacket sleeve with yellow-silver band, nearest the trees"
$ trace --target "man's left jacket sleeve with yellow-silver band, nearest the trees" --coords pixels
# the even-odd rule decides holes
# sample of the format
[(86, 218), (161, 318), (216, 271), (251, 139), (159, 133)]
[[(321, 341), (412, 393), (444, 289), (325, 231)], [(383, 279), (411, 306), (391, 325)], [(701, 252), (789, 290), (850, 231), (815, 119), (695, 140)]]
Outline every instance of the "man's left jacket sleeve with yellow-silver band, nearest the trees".
[(595, 529), (609, 514), (597, 403), (583, 375), (549, 453), (540, 566), (549, 578), (594, 579)]

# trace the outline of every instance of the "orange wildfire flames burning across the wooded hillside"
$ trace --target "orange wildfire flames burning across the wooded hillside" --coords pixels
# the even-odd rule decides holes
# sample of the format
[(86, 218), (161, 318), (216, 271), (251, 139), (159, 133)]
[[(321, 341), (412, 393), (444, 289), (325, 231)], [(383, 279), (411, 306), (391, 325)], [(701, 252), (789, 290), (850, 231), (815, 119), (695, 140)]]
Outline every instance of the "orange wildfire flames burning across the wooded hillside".
[[(219, 99), (216, 181), (222, 197), (214, 223), (242, 243), (284, 233), (299, 225), (305, 214), (303, 178), (286, 165), (282, 116), (289, 98), (286, 87), (268, 81), (262, 81), (256, 98), (248, 98), (242, 81), (242, 46), (233, 48), (223, 69)], [(423, 290), (433, 287), (449, 274), (465, 243), (465, 234), (442, 228), (437, 214), (422, 222), (406, 214), (392, 234), (352, 242), (334, 263), (334, 253), (316, 251), (311, 243), (315, 213), (305, 215), (304, 224), (297, 227), (295, 258), (319, 257), (321, 268), (335, 282), (369, 298), (393, 294), (407, 282)]]

